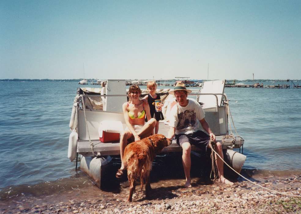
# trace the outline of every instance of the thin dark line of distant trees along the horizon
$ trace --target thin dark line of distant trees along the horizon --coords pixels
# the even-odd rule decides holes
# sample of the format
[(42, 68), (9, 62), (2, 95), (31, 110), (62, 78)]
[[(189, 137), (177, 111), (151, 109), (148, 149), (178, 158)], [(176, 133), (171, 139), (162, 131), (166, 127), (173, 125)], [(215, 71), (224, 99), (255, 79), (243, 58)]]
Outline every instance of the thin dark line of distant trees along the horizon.
[[(79, 82), (82, 79), (0, 79), (0, 81), (24, 81), (24, 82), (38, 82), (38, 81), (47, 81), (47, 82)], [(95, 80), (95, 79), (94, 79)], [(138, 80), (138, 79), (132, 79), (132, 80)], [(177, 81), (178, 79), (162, 79), (161, 81)], [(194, 81), (202, 81), (202, 80), (196, 80)], [(212, 79), (211, 79), (212, 80)], [(92, 79), (88, 79), (88, 81), (92, 81)], [(158, 80), (157, 80), (158, 81)], [(203, 81), (207, 81), (204, 79)], [(210, 80), (209, 80), (210, 81)], [(237, 80), (237, 79), (227, 79), (227, 82), (231, 83), (235, 81), (237, 82), (253, 82), (253, 79), (244, 79), (244, 80)], [(254, 82), (269, 82), (269, 81), (275, 81), (275, 79), (254, 79)], [(286, 81), (286, 80), (284, 80)], [(300, 79), (289, 79), (289, 81), (301, 81)]]

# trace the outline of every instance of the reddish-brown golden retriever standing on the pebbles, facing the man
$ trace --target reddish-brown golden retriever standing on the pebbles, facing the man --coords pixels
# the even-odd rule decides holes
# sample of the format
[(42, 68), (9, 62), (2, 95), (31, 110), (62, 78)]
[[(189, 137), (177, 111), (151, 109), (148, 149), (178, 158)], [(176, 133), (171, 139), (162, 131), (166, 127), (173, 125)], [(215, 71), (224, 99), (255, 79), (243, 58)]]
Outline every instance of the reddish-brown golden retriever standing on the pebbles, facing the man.
[(132, 142), (125, 147), (123, 162), (128, 170), (128, 182), (130, 184), (128, 201), (132, 201), (133, 192), (135, 190), (135, 180), (138, 179), (138, 177), (140, 179), (141, 191), (143, 189), (143, 181), (145, 180), (146, 197), (149, 196), (151, 190), (149, 175), (152, 161), (157, 153), (170, 144), (171, 140), (167, 140), (164, 135), (155, 134), (148, 138)]

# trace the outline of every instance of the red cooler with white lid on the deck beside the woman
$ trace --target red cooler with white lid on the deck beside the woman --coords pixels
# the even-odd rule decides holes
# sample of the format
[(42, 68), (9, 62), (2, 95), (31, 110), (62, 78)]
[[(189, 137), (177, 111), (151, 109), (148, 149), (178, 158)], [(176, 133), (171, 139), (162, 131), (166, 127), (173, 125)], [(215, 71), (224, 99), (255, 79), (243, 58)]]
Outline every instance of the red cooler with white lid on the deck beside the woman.
[(122, 132), (121, 121), (103, 120), (98, 127), (99, 140), (103, 143), (119, 141)]

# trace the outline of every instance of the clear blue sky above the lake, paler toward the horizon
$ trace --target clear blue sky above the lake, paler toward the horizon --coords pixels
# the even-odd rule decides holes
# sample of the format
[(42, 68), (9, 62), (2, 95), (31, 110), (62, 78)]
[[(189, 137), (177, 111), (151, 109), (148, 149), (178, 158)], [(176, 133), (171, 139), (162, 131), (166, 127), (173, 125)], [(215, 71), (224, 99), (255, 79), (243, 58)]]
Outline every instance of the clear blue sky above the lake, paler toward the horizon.
[(207, 79), (208, 63), (301, 79), (301, 1), (0, 1), (0, 79)]

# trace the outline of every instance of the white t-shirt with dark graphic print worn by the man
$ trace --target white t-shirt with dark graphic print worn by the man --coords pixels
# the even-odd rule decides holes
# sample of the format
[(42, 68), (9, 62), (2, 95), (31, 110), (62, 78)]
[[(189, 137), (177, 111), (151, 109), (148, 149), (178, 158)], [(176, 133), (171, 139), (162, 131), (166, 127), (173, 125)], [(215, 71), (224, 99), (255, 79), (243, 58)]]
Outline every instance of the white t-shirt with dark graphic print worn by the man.
[(205, 117), (205, 112), (201, 105), (188, 99), (188, 105), (180, 106), (179, 103), (174, 105), (170, 111), (169, 126), (176, 128), (176, 135), (190, 134), (201, 130), (199, 120)]

